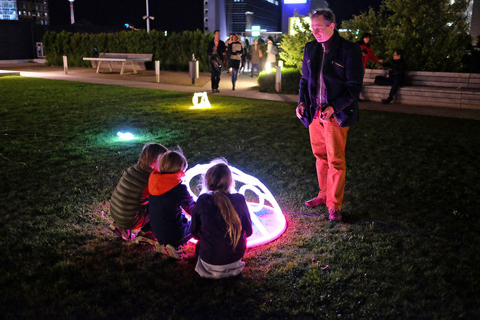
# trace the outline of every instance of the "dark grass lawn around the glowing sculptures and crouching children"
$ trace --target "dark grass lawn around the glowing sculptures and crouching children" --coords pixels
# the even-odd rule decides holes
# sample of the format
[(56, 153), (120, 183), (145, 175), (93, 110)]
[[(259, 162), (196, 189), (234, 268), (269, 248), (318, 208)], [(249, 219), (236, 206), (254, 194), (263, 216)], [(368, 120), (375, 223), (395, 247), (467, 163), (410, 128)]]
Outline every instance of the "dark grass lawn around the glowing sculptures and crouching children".
[[(25, 77), (1, 77), (0, 96), (2, 319), (479, 315), (478, 121), (362, 110), (347, 221), (331, 223), (302, 205), (317, 182), (292, 103), (211, 95), (189, 110), (188, 93)], [(239, 278), (201, 279), (193, 245), (177, 262), (108, 231), (112, 190), (150, 140), (190, 167), (226, 157), (287, 211)]]

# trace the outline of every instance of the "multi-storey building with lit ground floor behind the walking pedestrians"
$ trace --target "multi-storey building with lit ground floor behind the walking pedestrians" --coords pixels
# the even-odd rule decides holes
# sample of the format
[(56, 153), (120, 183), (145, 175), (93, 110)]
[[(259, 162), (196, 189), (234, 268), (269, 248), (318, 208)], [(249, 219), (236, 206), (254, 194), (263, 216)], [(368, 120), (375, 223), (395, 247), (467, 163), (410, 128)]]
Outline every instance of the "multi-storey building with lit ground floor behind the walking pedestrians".
[(262, 36), (281, 33), (282, 0), (204, 0), (204, 33), (220, 30), (220, 37), (236, 33), (252, 36), (252, 26)]

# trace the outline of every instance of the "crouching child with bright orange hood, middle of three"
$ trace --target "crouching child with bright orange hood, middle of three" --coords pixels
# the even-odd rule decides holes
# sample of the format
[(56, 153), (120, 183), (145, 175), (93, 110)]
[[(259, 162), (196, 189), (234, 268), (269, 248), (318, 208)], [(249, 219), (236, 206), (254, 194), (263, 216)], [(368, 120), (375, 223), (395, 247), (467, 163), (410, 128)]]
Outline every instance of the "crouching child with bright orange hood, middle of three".
[(193, 197), (182, 184), (187, 160), (181, 151), (167, 151), (160, 157), (158, 169), (149, 177), (148, 210), (150, 223), (157, 238), (156, 250), (180, 259), (179, 249), (191, 238), (190, 221), (182, 209), (191, 214)]

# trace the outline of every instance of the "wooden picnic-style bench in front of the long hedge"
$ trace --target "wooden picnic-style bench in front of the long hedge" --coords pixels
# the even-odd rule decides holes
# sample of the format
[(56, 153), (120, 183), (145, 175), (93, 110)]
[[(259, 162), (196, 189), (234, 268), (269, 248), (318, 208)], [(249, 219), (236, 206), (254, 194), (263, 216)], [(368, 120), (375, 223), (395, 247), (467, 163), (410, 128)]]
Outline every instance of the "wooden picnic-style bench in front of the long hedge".
[(108, 69), (112, 72), (112, 64), (114, 66), (121, 65), (120, 74), (123, 75), (127, 62), (131, 62), (133, 73), (137, 70), (145, 70), (145, 62), (152, 61), (152, 54), (144, 53), (100, 53), (98, 58), (84, 58), (92, 62), (92, 67), (97, 67), (97, 73), (100, 72), (102, 62), (107, 62)]

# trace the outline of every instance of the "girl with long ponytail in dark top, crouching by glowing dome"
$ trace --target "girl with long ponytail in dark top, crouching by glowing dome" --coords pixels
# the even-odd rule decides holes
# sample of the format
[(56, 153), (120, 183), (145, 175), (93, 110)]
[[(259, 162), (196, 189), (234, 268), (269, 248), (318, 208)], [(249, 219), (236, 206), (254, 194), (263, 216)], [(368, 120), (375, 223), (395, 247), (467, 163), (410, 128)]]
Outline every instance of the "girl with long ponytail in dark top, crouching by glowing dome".
[(215, 164), (204, 175), (209, 192), (193, 208), (191, 233), (198, 239), (195, 271), (203, 278), (227, 278), (241, 273), (241, 261), (252, 235), (252, 221), (245, 197), (231, 194), (235, 184), (226, 162)]

